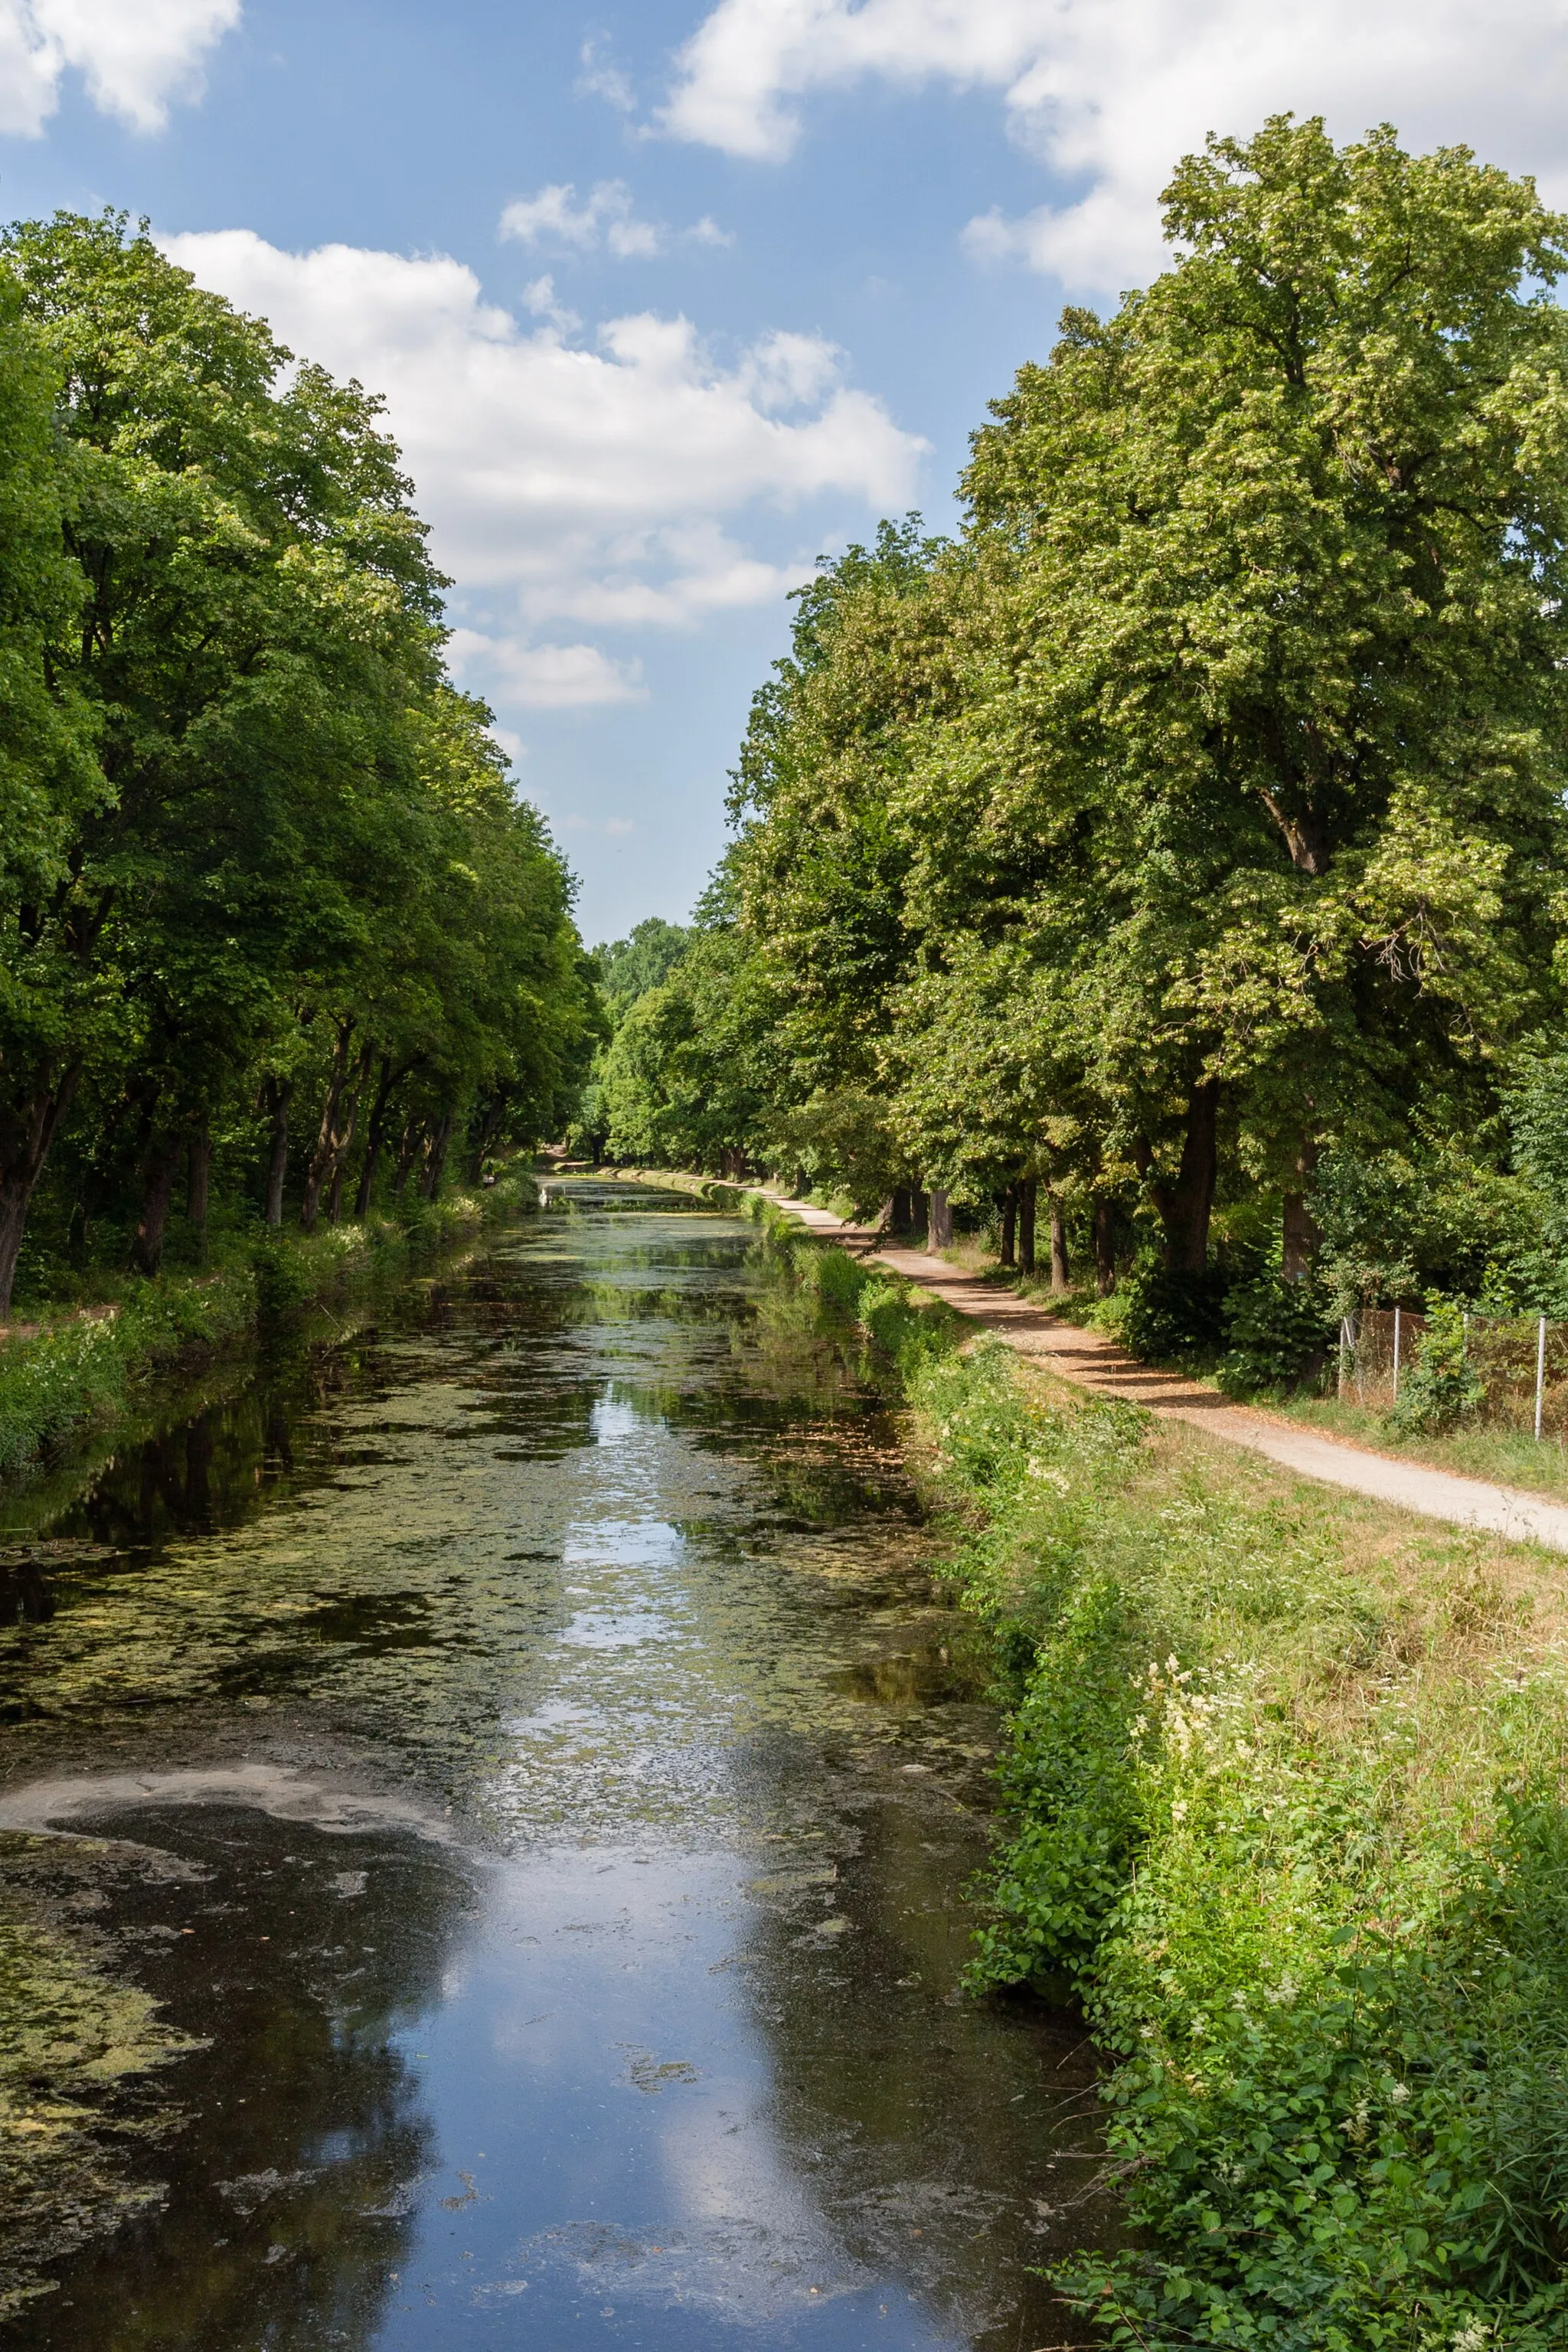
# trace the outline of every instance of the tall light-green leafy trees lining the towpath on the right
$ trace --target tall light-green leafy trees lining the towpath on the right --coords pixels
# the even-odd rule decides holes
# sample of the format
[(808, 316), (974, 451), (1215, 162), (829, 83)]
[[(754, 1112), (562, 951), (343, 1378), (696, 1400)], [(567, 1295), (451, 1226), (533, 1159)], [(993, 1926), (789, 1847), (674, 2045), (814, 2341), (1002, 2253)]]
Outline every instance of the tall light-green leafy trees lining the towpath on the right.
[(1276, 118), (1166, 233), (802, 590), (583, 1138), (1568, 1312), (1568, 221)]

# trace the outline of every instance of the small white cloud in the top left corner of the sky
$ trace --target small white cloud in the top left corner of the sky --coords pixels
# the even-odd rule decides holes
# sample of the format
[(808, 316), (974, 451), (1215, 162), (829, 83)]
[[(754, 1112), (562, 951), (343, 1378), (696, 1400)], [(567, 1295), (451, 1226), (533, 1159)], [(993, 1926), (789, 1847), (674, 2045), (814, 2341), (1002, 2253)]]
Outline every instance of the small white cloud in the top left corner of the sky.
[(38, 139), (66, 73), (99, 113), (160, 132), (237, 24), (240, 0), (0, 0), (0, 132)]

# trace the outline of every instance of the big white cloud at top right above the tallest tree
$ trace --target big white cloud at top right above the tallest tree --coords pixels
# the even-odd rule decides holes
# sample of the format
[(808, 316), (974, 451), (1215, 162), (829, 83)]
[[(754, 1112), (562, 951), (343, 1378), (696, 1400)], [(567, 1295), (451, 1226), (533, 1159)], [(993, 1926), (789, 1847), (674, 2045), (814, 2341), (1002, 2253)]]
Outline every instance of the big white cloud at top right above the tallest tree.
[(1568, 195), (1563, 0), (719, 0), (679, 54), (663, 127), (778, 160), (802, 101), (863, 78), (1001, 94), (1072, 193), (971, 223), (978, 254), (1117, 289), (1159, 266), (1157, 195), (1204, 134), (1324, 113), (1467, 141)]

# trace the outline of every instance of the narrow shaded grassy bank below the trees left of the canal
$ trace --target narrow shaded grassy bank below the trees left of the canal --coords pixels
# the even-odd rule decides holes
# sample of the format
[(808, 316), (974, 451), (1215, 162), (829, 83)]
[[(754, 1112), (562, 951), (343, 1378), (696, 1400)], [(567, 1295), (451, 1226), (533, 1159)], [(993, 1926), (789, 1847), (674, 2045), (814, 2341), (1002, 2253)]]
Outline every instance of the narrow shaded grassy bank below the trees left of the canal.
[(522, 1169), (489, 1192), (409, 1202), (400, 1218), (259, 1232), (205, 1275), (127, 1279), (115, 1298), (0, 1341), (0, 1477), (38, 1470), (73, 1439), (113, 1423), (162, 1371), (190, 1371), (280, 1315), (395, 1277), (418, 1256), (515, 1214), (534, 1195)]

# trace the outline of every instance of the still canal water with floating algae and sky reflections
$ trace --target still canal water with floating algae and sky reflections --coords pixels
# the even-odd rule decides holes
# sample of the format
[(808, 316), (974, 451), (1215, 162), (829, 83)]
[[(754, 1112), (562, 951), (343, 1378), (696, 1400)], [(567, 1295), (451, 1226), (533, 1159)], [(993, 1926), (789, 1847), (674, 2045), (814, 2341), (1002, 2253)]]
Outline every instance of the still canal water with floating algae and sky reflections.
[(931, 1543), (752, 1228), (576, 1181), (12, 1545), (0, 1851), (197, 2046), (0, 2345), (1077, 2340), (1093, 2070), (959, 1994)]

